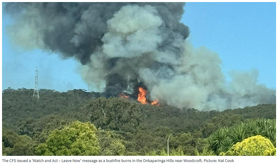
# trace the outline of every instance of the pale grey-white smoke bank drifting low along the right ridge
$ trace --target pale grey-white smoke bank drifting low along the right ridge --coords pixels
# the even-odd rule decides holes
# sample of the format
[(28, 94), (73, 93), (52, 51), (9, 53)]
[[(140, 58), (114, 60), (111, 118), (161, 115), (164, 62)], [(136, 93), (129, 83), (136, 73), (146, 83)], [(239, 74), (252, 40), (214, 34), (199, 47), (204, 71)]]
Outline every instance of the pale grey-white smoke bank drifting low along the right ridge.
[[(171, 79), (162, 80), (156, 73), (141, 72), (151, 90), (151, 98), (199, 110), (225, 110), (275, 102), (276, 91), (258, 84), (255, 70), (232, 72), (232, 81), (226, 82), (218, 54), (205, 47), (193, 48), (187, 42), (182, 59)], [(159, 81), (149, 83), (154, 80)]]

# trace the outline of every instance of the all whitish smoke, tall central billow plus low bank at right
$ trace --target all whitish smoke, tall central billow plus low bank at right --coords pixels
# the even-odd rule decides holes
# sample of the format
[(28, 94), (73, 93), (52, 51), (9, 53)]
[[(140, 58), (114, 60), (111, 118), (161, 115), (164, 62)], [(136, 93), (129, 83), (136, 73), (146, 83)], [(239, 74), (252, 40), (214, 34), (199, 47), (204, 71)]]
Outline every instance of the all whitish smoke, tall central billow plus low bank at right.
[[(219, 55), (206, 47), (194, 48), (178, 37), (173, 45), (184, 50), (180, 57), (170, 50), (158, 51), (157, 45), (163, 41), (160, 36), (163, 32), (158, 29), (162, 21), (151, 6), (124, 6), (107, 23), (109, 32), (102, 38), (104, 55), (137, 61), (133, 69), (137, 70), (139, 81), (144, 82), (153, 100), (180, 108), (225, 110), (272, 102), (272, 96), (276, 95), (275, 90), (257, 84), (258, 72), (254, 70), (232, 72), (232, 81), (226, 82)], [(173, 69), (141, 66), (145, 64), (144, 58), (171, 64)], [(118, 74), (129, 73), (121, 70), (129, 65), (128, 61), (116, 65)]]

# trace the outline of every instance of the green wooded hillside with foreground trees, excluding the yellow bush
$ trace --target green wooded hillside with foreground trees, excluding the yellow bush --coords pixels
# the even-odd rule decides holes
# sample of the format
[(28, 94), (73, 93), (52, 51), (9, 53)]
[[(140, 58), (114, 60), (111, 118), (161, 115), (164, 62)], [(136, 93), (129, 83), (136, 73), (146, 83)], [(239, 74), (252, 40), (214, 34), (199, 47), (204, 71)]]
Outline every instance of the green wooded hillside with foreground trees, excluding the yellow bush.
[[(276, 104), (200, 111), (105, 98), (85, 90), (40, 90), (39, 94), (38, 99), (33, 97), (32, 89), (3, 90), (3, 155), (158, 155), (166, 151), (167, 138), (172, 134), (169, 145), (174, 155), (229, 155), (234, 144), (255, 135), (268, 138), (276, 147)], [(67, 149), (49, 148), (57, 137), (61, 141), (65, 137), (75, 139), (88, 130), (90, 142), (81, 140), (76, 144), (73, 140)], [(229, 136), (236, 130), (242, 132), (241, 138)], [(220, 143), (222, 147), (216, 148), (213, 142), (217, 135), (229, 143)], [(82, 143), (89, 147), (84, 151), (74, 149), (73, 144)]]

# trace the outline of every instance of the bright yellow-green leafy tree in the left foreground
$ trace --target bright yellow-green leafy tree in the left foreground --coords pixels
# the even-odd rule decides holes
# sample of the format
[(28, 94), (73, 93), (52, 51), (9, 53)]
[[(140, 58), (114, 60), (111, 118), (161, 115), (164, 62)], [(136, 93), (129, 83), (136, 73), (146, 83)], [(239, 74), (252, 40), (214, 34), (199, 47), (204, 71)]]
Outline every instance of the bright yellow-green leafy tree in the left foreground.
[(38, 155), (98, 155), (100, 152), (97, 129), (93, 124), (75, 121), (55, 129), (45, 143), (36, 147)]

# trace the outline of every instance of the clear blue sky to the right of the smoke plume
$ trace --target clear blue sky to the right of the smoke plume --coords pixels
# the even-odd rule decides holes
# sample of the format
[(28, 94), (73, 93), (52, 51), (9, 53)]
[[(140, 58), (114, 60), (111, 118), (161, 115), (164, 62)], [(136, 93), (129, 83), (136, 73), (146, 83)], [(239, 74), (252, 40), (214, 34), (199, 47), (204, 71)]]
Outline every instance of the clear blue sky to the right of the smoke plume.
[(257, 69), (259, 83), (276, 89), (275, 3), (186, 3), (184, 10), (188, 39), (217, 52), (225, 75)]

